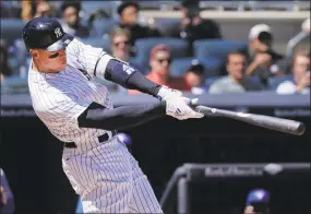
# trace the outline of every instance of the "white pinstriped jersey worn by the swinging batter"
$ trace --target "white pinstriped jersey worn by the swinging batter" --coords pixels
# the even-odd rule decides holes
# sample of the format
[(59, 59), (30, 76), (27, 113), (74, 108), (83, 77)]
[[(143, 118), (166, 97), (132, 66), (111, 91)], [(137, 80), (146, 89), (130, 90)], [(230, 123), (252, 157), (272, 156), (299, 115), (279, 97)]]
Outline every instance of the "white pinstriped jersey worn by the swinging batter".
[[(101, 57), (103, 56), (103, 57)], [(96, 136), (110, 131), (79, 128), (77, 117), (92, 102), (112, 108), (109, 93), (95, 82), (95, 75), (104, 78), (104, 71), (94, 73), (98, 58), (112, 58), (101, 48), (94, 48), (74, 39), (67, 47), (67, 67), (58, 73), (43, 73), (29, 68), (28, 85), (33, 107), (49, 131), (63, 142), (81, 146), (96, 143)]]

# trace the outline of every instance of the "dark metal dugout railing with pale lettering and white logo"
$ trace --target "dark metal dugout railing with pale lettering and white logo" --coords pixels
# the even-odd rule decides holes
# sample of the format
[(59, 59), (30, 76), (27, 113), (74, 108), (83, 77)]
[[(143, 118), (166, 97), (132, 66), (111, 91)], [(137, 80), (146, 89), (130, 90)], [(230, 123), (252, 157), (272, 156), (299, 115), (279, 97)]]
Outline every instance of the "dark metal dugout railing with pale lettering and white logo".
[(160, 205), (164, 207), (172, 188), (177, 185), (177, 213), (191, 213), (189, 186), (191, 181), (224, 178), (251, 177), (290, 177), (307, 175), (310, 178), (310, 163), (266, 163), (266, 164), (192, 164), (178, 167), (162, 195)]

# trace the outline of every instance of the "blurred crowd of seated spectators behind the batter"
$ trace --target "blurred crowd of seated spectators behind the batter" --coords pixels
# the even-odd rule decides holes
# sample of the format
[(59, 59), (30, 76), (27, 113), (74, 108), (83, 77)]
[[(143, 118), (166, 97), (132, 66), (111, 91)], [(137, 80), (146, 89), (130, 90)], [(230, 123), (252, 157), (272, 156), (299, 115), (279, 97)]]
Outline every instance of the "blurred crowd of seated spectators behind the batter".
[[(208, 59), (195, 58), (194, 44), (198, 40), (219, 40), (223, 36), (215, 21), (200, 16), (196, 1), (181, 1), (178, 10), (182, 12), (182, 19), (176, 27), (168, 28), (165, 35), (158, 31), (155, 20), (149, 19), (145, 24), (140, 22), (141, 8), (137, 2), (119, 2), (111, 13), (98, 9), (87, 19), (82, 19), (83, 10), (80, 1), (27, 0), (20, 3), (21, 10), (14, 10), (14, 7), (1, 1), (1, 12), (3, 12), (1, 17), (19, 17), (25, 22), (37, 16), (58, 17), (64, 32), (85, 41), (88, 38), (100, 37), (104, 43), (104, 38), (108, 38), (107, 52), (129, 62), (149, 80), (176, 90), (193, 94), (249, 91), (275, 91), (279, 94), (310, 93), (310, 49), (295, 50), (292, 56), (278, 54), (273, 49), (275, 40), (273, 29), (265, 23), (250, 28), (246, 46), (242, 48), (232, 46), (228, 49), (222, 57), (224, 59), (218, 60), (220, 62), (213, 69), (214, 74), (211, 75), (207, 69)], [(107, 20), (113, 20), (109, 31), (100, 33), (103, 28), (98, 31), (96, 25)], [(301, 28), (310, 32), (310, 19), (302, 23)], [(175, 52), (180, 50), (176, 50), (169, 43), (162, 43), (160, 39), (153, 41), (148, 54), (144, 55), (146, 63), (137, 60), (137, 49), (141, 48), (137, 46), (143, 46), (137, 43), (139, 40), (163, 37), (181, 39), (188, 44), (186, 50), (188, 62), (179, 68), (178, 75), (172, 72), (172, 63), (177, 59)], [(26, 49), (22, 46), (21, 39), (16, 39), (13, 45), (8, 45), (5, 39), (1, 38), (1, 82), (5, 83), (8, 80), (9, 84), (10, 75), (26, 76), (29, 59)], [(16, 68), (12, 69), (11, 55), (17, 59), (17, 71)], [(178, 56), (180, 55), (179, 52)], [(98, 83), (106, 84), (115, 92), (139, 94), (107, 81), (98, 80)]]

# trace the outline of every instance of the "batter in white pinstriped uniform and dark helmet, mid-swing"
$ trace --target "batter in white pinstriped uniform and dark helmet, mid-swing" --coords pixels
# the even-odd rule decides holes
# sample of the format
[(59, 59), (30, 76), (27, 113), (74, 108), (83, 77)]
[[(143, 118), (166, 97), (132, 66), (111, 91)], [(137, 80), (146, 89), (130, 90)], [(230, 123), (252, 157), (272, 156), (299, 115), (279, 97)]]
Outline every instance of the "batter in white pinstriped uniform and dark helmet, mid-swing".
[[(116, 130), (165, 115), (201, 118), (181, 92), (151, 82), (127, 62), (63, 32), (56, 19), (31, 20), (23, 39), (32, 56), (28, 86), (33, 107), (64, 142), (62, 167), (84, 213), (163, 213), (146, 176)], [(156, 104), (113, 108), (95, 78), (157, 97)]]

